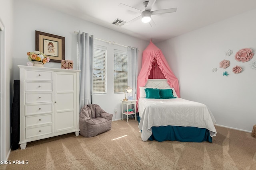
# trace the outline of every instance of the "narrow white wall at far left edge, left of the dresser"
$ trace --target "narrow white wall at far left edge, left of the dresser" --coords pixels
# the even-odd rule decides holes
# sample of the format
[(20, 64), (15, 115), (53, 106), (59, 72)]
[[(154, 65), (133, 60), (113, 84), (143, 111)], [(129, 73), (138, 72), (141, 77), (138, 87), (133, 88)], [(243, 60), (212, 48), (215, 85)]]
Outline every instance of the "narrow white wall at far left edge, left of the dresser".
[(1, 115), (1, 160), (6, 160), (10, 152), (10, 106), (12, 95), (12, 35), (13, 35), (13, 25), (12, 25), (12, 14), (13, 14), (13, 1), (12, 0), (0, 0), (0, 20), (4, 26), (4, 49), (1, 65), (4, 65), (6, 71), (2, 72), (5, 79), (3, 84), (3, 93), (1, 94), (1, 100), (4, 103), (3, 113)]

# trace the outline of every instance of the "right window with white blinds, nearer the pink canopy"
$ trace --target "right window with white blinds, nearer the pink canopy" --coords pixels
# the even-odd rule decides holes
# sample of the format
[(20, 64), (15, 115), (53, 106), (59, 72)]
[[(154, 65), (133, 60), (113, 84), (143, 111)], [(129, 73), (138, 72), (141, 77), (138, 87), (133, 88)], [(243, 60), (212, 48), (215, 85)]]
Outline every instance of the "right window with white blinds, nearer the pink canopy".
[(114, 49), (114, 93), (127, 88), (127, 51)]

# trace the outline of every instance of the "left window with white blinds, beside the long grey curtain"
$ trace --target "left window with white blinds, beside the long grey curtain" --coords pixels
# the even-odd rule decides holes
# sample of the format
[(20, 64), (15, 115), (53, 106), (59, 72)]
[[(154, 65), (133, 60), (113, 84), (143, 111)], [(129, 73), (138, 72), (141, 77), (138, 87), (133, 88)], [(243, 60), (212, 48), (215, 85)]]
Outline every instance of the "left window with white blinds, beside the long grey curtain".
[(106, 94), (106, 51), (107, 48), (94, 45), (93, 93)]

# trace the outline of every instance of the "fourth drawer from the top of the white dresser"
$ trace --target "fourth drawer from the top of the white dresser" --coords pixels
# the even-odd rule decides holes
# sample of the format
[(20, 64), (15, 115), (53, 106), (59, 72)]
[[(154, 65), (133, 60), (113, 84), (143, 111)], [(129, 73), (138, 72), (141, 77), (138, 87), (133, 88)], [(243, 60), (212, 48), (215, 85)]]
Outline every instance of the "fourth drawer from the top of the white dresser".
[(26, 104), (25, 105), (25, 115), (52, 113), (52, 109), (53, 109), (53, 103)]

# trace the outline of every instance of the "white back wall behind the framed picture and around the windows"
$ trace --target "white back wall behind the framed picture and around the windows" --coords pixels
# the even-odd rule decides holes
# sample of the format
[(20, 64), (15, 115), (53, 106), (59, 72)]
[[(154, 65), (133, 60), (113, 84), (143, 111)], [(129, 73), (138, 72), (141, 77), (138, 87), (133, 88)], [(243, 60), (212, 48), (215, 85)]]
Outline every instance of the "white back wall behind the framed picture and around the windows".
[[(99, 39), (104, 39), (111, 42), (116, 42), (126, 46), (138, 47), (140, 71), (142, 62), (142, 52), (149, 42), (142, 41), (135, 37), (131, 37), (116, 31), (112, 31), (106, 27), (90, 23), (88, 21), (75, 18), (63, 14), (58, 11), (47, 9), (26, 0), (14, 1), (14, 79), (19, 79), (18, 64), (26, 65), (28, 62), (26, 53), (35, 50), (35, 30), (51, 33), (65, 37), (65, 59), (74, 61), (74, 68), (77, 68), (77, 35), (74, 31), (84, 31)], [(29, 9), (29, 10), (24, 10)], [(94, 40), (95, 44), (102, 43)], [(113, 116), (113, 120), (121, 118), (121, 102), (124, 94), (113, 94), (113, 62), (114, 55), (111, 50), (115, 45), (108, 45), (107, 54), (107, 94), (95, 95), (94, 103), (99, 104), (105, 111), (114, 114), (114, 109), (117, 108), (117, 114)], [(60, 63), (46, 63), (45, 67), (60, 68)]]

